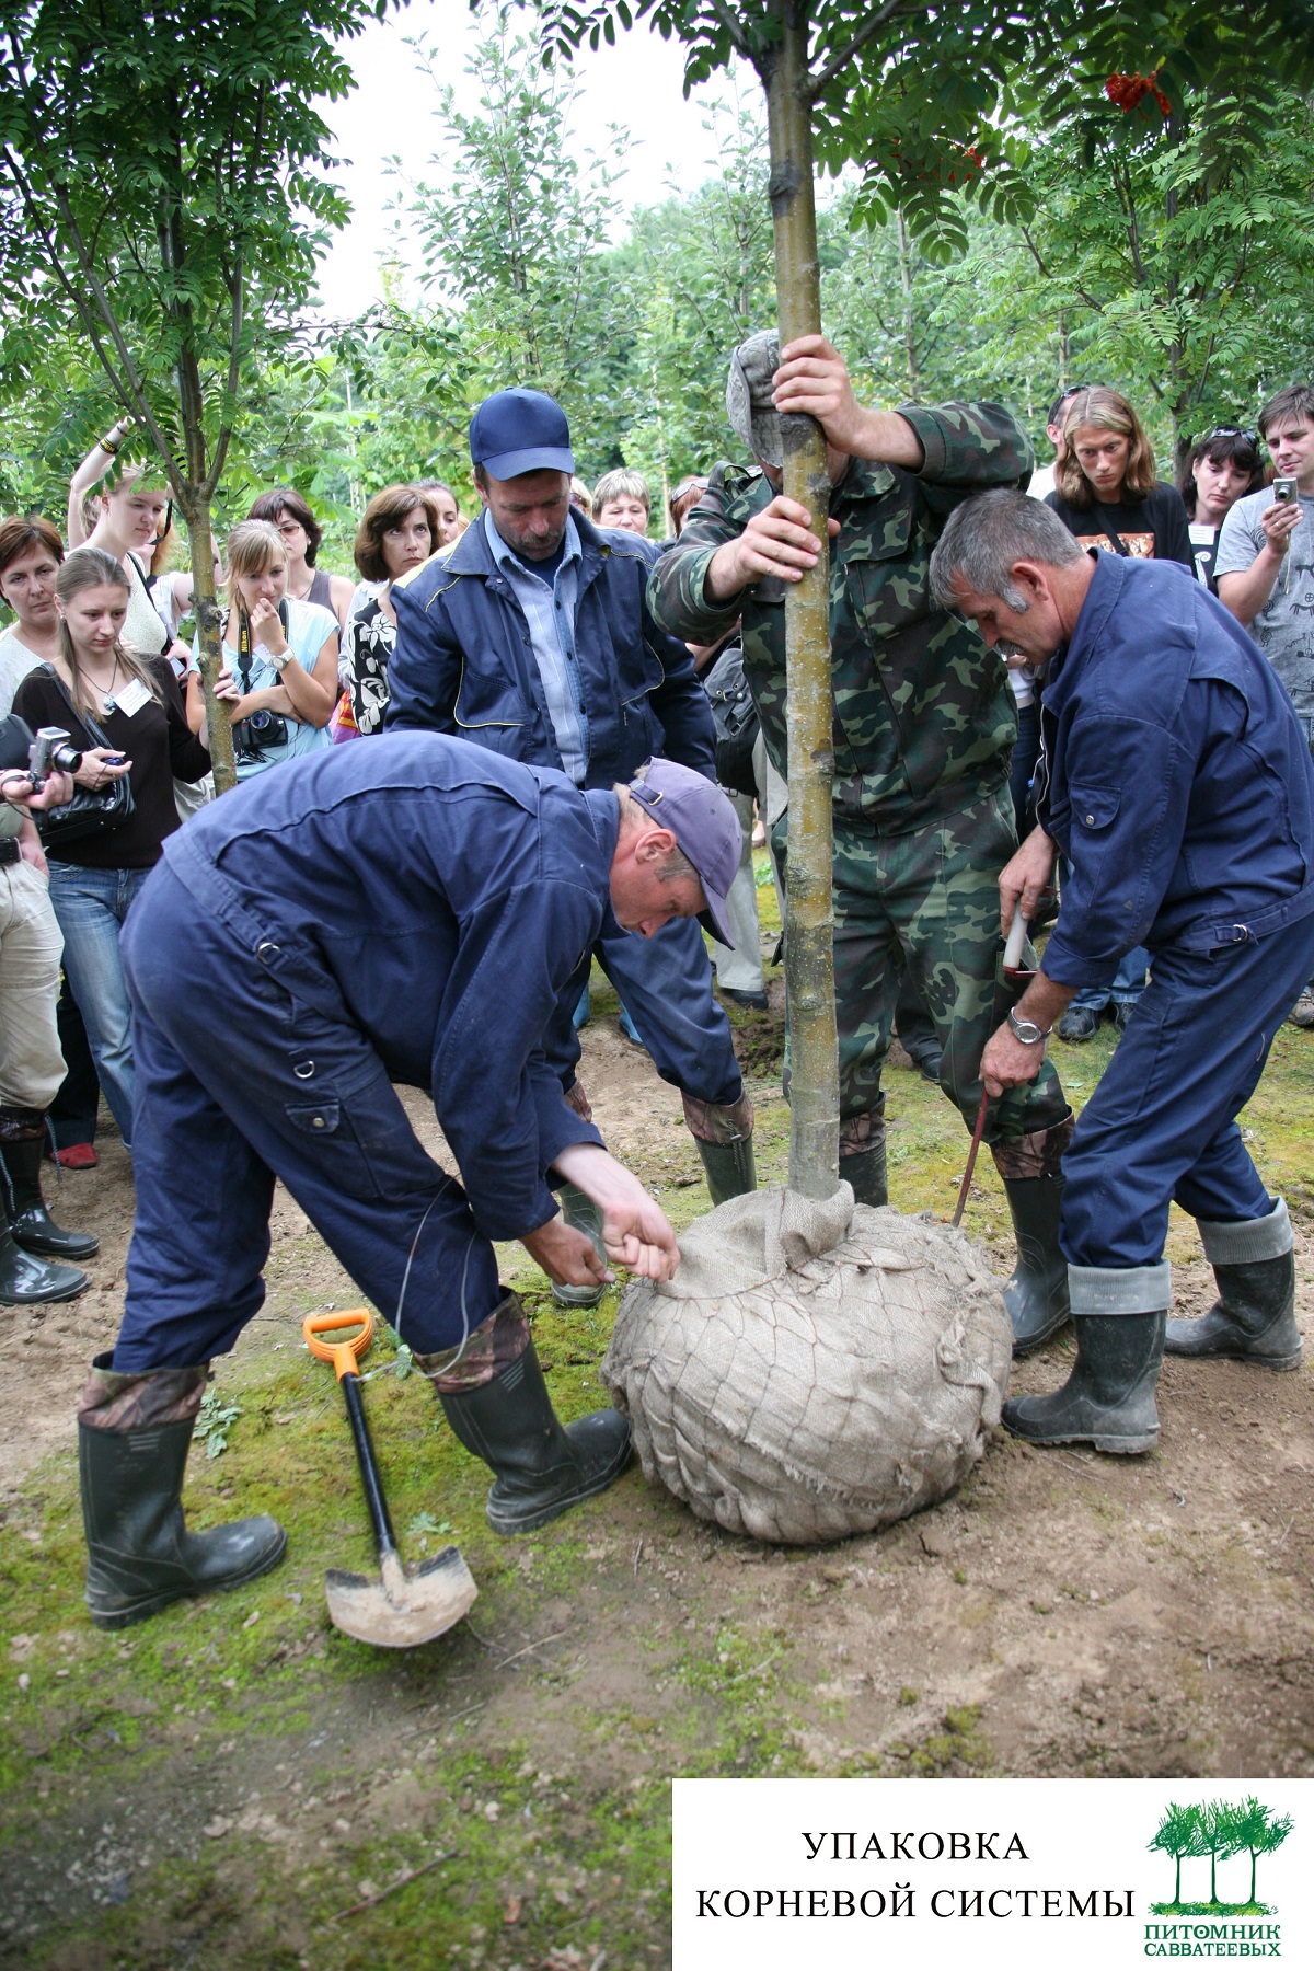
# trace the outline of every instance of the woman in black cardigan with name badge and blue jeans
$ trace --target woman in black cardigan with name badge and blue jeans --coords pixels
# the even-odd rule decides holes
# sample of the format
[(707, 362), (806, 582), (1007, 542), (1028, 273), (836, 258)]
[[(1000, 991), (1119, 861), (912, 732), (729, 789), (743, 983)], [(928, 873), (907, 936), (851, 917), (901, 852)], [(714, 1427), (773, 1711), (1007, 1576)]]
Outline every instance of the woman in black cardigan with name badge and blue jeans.
[(132, 1143), (132, 1045), (118, 932), (179, 826), (173, 777), (201, 781), (211, 757), (191, 733), (177, 678), (165, 656), (142, 656), (122, 641), (132, 585), (114, 554), (77, 548), (55, 578), (59, 652), (30, 670), (14, 712), (35, 731), (57, 725), (81, 753), (77, 786), (95, 790), (128, 777), (132, 812), (112, 828), (45, 842), (49, 895), (63, 932), (63, 968), (91, 1041), (100, 1088)]

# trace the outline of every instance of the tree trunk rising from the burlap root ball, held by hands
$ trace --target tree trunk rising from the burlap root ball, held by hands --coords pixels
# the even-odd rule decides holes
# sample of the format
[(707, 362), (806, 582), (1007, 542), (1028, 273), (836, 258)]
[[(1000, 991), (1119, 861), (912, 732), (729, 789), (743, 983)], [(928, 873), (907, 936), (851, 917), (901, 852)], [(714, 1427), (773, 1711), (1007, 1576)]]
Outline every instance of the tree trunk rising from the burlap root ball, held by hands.
[[(821, 327), (812, 197), (808, 0), (772, 0), (780, 43), (762, 67), (770, 136), (780, 347)], [(786, 589), (790, 851), (784, 978), (790, 1001), (790, 1187), (827, 1198), (839, 1183), (839, 1049), (831, 901), (829, 475), (814, 418), (784, 420), (784, 491), (821, 536), (818, 566)]]

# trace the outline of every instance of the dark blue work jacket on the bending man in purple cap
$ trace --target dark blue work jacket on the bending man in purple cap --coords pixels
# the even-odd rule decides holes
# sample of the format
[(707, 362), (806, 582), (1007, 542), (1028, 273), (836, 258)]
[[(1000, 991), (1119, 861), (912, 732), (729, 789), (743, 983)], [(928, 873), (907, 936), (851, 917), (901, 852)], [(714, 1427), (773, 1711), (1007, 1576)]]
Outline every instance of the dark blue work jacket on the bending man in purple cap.
[[(617, 830), (609, 792), (398, 733), (258, 775), (164, 855), (294, 1001), (431, 1090), (475, 1222), (504, 1240), (552, 1218), (558, 1151), (601, 1143), (540, 1039), (609, 920)], [(223, 980), (211, 1011), (223, 1035)]]

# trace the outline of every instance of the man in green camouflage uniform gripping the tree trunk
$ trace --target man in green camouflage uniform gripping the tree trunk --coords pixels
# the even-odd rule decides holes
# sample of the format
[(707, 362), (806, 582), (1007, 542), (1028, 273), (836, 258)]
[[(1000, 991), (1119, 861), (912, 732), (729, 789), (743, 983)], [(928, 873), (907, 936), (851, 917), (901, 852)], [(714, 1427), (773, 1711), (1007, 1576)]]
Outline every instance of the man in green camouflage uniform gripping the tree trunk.
[[(1024, 483), (1032, 455), (999, 404), (861, 408), (820, 335), (792, 343), (782, 365), (774, 333), (743, 343), (727, 408), (756, 465), (715, 467), (652, 572), (648, 605), (691, 643), (713, 643), (743, 615), (745, 672), (786, 773), (784, 593), (821, 544), (808, 510), (780, 495), (780, 412), (814, 416), (831, 479), (839, 1169), (861, 1200), (885, 1204), (881, 1068), (900, 962), (940, 1033), (940, 1084), (971, 1127), (1005, 995), (999, 871), (1017, 848), (1007, 672), (975, 627), (932, 601), (930, 554), (959, 501)], [(1048, 1062), (985, 1123), (1018, 1246), (1007, 1289), (1018, 1352), (1068, 1319), (1058, 1204), (1070, 1135)]]

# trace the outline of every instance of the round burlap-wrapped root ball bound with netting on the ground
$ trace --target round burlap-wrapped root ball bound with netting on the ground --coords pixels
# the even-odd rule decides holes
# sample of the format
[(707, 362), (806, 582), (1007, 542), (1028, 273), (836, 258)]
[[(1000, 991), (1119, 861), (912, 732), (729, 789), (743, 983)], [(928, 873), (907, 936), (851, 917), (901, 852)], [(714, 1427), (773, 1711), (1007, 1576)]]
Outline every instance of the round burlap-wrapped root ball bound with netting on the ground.
[(934, 1504), (999, 1423), (1011, 1330), (961, 1232), (772, 1187), (621, 1301), (603, 1382), (644, 1476), (731, 1533), (810, 1545)]

